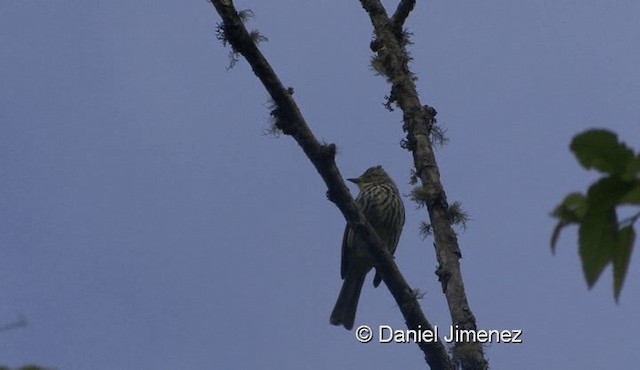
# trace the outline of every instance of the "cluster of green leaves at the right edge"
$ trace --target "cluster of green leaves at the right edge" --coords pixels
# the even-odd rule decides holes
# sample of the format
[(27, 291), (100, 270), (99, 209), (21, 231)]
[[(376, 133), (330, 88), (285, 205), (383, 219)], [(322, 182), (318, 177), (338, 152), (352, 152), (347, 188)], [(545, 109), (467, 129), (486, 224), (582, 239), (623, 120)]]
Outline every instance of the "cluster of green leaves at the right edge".
[(582, 269), (589, 288), (598, 281), (609, 263), (613, 265), (613, 291), (616, 301), (622, 291), (635, 241), (634, 216), (619, 221), (621, 206), (640, 206), (640, 154), (607, 130), (589, 130), (573, 138), (571, 151), (586, 169), (603, 176), (586, 194), (571, 193), (552, 215), (558, 219), (551, 236), (555, 252), (560, 231), (578, 225), (578, 244)]

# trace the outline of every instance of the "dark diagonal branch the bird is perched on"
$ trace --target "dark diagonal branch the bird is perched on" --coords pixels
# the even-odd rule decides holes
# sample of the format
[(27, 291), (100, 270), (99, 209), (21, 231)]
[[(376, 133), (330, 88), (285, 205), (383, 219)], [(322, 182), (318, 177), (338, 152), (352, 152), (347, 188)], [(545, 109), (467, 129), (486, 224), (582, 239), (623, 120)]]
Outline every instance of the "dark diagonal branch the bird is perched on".
[[(420, 331), (432, 330), (433, 326), (422, 313), (413, 290), (400, 274), (384, 242), (376, 234), (351, 197), (334, 161), (335, 145), (320, 144), (315, 138), (291, 96), (292, 90), (286, 89), (282, 85), (265, 57), (251, 40), (250, 34), (244, 27), (232, 2), (230, 0), (210, 1), (222, 18), (221, 27), (224, 31), (225, 41), (231, 44), (235, 52), (246, 58), (273, 99), (277, 110), (275, 114), (277, 115), (277, 128), (282, 130), (284, 134), (292, 136), (300, 145), (327, 184), (329, 200), (336, 204), (349, 225), (367, 243), (376, 270), (398, 303), (407, 327)], [(427, 363), (433, 369), (453, 369), (447, 351), (440, 341), (433, 343), (420, 341), (417, 344), (424, 352)]]

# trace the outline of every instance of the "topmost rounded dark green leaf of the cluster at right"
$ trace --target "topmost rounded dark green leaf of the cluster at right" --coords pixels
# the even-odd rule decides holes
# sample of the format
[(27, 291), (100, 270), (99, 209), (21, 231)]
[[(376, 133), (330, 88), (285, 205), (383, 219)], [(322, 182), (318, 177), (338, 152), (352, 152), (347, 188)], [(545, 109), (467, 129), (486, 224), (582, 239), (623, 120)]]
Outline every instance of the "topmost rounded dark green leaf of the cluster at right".
[(609, 174), (625, 174), (634, 158), (633, 151), (608, 130), (585, 131), (573, 138), (570, 148), (583, 167)]

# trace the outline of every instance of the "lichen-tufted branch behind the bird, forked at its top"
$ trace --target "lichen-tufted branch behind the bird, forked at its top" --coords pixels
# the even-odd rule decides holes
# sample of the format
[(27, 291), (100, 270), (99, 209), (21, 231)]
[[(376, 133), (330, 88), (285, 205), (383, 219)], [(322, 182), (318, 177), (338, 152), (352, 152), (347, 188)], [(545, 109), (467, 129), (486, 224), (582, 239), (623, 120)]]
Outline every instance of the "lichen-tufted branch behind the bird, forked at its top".
[[(389, 20), (380, 1), (360, 0), (360, 3), (371, 18), (375, 31), (376, 39), (371, 43), (371, 48), (377, 53), (376, 63), (392, 85), (388, 103), (396, 103), (403, 111), (406, 147), (413, 153), (415, 173), (422, 183), (439, 263), (436, 274), (449, 305), (452, 324), (461, 329), (476, 330), (476, 320), (467, 301), (460, 271), (459, 259), (462, 255), (448, 217), (449, 205), (430, 140), (434, 130), (437, 130), (434, 126), (436, 111), (421, 104), (415, 77), (409, 69), (411, 58), (404, 48), (406, 42), (397, 37), (394, 23)], [(405, 1), (400, 3), (399, 9), (403, 3)], [(395, 22), (402, 18), (399, 14), (404, 13), (397, 11)], [(463, 369), (488, 368), (480, 343), (456, 343), (454, 356)]]

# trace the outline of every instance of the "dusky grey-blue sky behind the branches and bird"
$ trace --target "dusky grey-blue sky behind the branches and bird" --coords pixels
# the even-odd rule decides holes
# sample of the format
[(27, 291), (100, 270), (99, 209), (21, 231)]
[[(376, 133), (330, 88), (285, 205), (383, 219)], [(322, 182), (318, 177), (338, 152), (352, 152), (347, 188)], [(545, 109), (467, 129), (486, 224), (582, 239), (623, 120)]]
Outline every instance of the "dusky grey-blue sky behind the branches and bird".
[[(369, 68), (357, 1), (237, 1), (317, 137), (354, 177), (381, 164), (404, 194), (411, 156)], [(395, 2), (385, 4), (394, 9)], [(471, 215), (462, 268), (478, 325), (522, 329), (494, 369), (637, 364), (640, 266), (620, 304), (589, 291), (575, 231), (552, 256), (550, 211), (595, 174), (568, 151), (592, 127), (639, 149), (640, 5), (420, 2), (413, 70), (450, 143), (449, 201)], [(344, 219), (206, 1), (0, 2), (0, 363), (58, 369), (423, 368), (412, 344), (329, 325)], [(352, 189), (356, 192), (356, 189)], [(409, 199), (396, 261), (449, 324), (426, 217)], [(356, 325), (403, 320), (369, 278)]]

